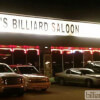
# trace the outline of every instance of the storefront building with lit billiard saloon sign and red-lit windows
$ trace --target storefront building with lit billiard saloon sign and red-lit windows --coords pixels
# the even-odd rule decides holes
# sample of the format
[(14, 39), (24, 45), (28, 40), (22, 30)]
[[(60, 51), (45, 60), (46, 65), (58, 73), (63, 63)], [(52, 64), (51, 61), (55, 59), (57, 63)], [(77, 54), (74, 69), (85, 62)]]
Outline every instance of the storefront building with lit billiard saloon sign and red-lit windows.
[(0, 13), (0, 62), (32, 64), (47, 76), (100, 60), (100, 24)]

